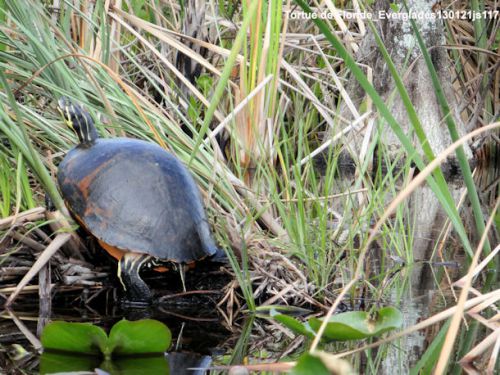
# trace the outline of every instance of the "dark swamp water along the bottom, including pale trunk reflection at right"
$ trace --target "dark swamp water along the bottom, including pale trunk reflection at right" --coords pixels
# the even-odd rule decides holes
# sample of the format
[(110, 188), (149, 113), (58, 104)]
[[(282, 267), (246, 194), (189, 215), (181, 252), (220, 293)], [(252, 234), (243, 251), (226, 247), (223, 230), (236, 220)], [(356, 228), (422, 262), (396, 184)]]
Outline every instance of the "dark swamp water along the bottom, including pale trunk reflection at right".
[[(441, 278), (443, 267), (432, 267), (420, 263), (413, 267), (402, 267), (393, 272), (388, 281), (387, 290), (379, 301), (356, 300), (365, 306), (378, 304), (398, 307), (404, 316), (404, 327), (411, 327), (419, 321), (454, 304), (449, 289), (438, 288), (436, 280)], [(37, 298), (23, 297), (12, 312), (4, 311), (0, 315), (0, 368), (2, 373), (38, 373), (51, 368), (47, 363), (61, 361), (61, 370), (67, 363), (84, 362), (85, 369), (99, 367), (110, 373), (133, 373), (137, 366), (148, 369), (148, 374), (203, 374), (206, 368), (242, 363), (245, 358), (252, 363), (273, 362), (280, 359), (286, 351), (287, 358), (293, 360), (308, 347), (307, 340), (288, 337), (276, 325), (273, 327), (266, 320), (249, 321), (244, 327), (242, 318), (237, 322), (226, 322), (224, 315), (216, 308), (216, 298), (212, 296), (189, 296), (183, 299), (166, 300), (161, 307), (151, 309), (122, 309), (113, 302), (112, 289), (103, 292), (94, 299), (90, 306), (80, 302), (81, 291), (65, 293), (54, 299), (54, 308), (50, 311), (50, 320), (92, 322), (109, 329), (122, 318), (136, 320), (140, 318), (157, 319), (165, 323), (172, 331), (172, 347), (161, 358), (124, 359), (105, 363), (101, 360), (85, 361), (73, 359), (40, 357), (30, 342), (29, 334), (39, 335), (43, 323), (49, 319), (39, 316)], [(29, 301), (32, 301), (30, 304)], [(346, 305), (349, 304), (345, 301)], [(61, 307), (63, 306), (63, 307)], [(426, 330), (411, 333), (399, 341), (373, 350), (371, 359), (366, 355), (352, 357), (353, 362), (366, 373), (378, 374), (409, 373), (409, 370), (422, 357), (426, 347), (437, 334), (441, 324)], [(359, 345), (337, 343), (328, 346), (330, 352), (341, 352)], [(57, 362), (56, 362), (57, 363)], [(48, 367), (47, 367), (48, 366)], [(133, 369), (136, 370), (133, 370)], [(198, 368), (197, 372), (188, 371)], [(166, 370), (169, 369), (169, 370)], [(167, 371), (167, 372), (166, 372)], [(217, 371), (214, 371), (217, 373)]]

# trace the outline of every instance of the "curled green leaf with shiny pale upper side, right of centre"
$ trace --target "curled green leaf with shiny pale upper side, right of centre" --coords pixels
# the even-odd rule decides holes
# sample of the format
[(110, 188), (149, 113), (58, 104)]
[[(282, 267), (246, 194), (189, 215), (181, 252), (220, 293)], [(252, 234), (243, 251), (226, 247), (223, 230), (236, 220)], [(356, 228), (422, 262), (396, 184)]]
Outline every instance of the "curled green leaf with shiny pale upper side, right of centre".
[[(322, 320), (311, 318), (309, 324), (317, 332)], [(360, 340), (400, 328), (402, 324), (403, 315), (394, 307), (383, 307), (373, 315), (365, 311), (351, 311), (332, 316), (326, 325), (323, 338), (338, 341)]]

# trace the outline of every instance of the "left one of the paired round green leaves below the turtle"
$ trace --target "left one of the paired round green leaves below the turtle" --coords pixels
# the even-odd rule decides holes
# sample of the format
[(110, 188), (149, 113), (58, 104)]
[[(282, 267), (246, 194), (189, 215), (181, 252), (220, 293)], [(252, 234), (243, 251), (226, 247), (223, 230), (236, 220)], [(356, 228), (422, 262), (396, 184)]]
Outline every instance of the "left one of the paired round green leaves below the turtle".
[(98, 355), (104, 352), (107, 341), (106, 332), (90, 323), (52, 322), (42, 332), (46, 350)]

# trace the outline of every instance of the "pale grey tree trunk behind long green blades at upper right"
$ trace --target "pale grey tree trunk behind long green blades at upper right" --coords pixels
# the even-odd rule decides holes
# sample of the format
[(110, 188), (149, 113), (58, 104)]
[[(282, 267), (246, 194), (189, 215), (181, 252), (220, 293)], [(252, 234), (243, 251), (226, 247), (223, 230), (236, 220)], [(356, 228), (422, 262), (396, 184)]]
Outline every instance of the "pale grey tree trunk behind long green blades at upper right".
[[(404, 15), (407, 14), (402, 3), (396, 2), (400, 7), (399, 12), (394, 12), (390, 8), (389, 1), (377, 0), (374, 4), (374, 16), (380, 14), (386, 15)], [(450, 108), (452, 108), (452, 115), (459, 127), (459, 132), (464, 133), (464, 126), (460, 120), (459, 113), (456, 111), (456, 97), (453, 91), (452, 82), (450, 77), (453, 72), (450, 66), (450, 60), (445, 48), (442, 48), (446, 43), (444, 28), (442, 21), (439, 19), (424, 19), (425, 15), (432, 14), (432, 6), (435, 1), (418, 0), (410, 1), (409, 8), (411, 12), (422, 15), (416, 18), (416, 23), (419, 31), (425, 41), (427, 48), (430, 50), (430, 55), (440, 77), (441, 85), (447, 96)], [(429, 144), (435, 155), (443, 151), (449, 146), (452, 141), (448, 133), (448, 128), (443, 121), (443, 113), (440, 110), (439, 103), (435, 95), (435, 89), (432, 85), (429, 70), (422, 57), (420, 49), (417, 44), (415, 33), (411, 28), (410, 21), (404, 19), (379, 19), (376, 22), (378, 26), (378, 33), (383, 39), (384, 45), (387, 48), (396, 68), (399, 71), (403, 82), (408, 91), (410, 99), (415, 107), (417, 115), (420, 119), (425, 134), (429, 140)], [(405, 134), (413, 138), (414, 144), (421, 154), (421, 147), (415, 135), (411, 135), (410, 121), (404, 104), (395, 90), (394, 80), (389, 72), (385, 60), (375, 42), (375, 38), (370, 31), (360, 45), (358, 50), (357, 61), (366, 64), (373, 69), (373, 85), (378, 93), (390, 103), (390, 108), (393, 116), (403, 128)], [(360, 102), (364, 98), (364, 92), (357, 85), (353, 84), (351, 89), (351, 98), (357, 99)], [(347, 111), (342, 112), (343, 114)], [(396, 156), (401, 149), (401, 143), (392, 130), (387, 127), (383, 130), (382, 142), (389, 150), (389, 156)], [(362, 135), (357, 134), (351, 138), (349, 145), (352, 146), (351, 153), (353, 160), (360, 154)], [(471, 152), (466, 147), (466, 154), (471, 157)], [(450, 157), (442, 166), (445, 177), (448, 182), (456, 177), (458, 163), (456, 158)], [(456, 179), (455, 179), (456, 180)], [(456, 194), (459, 194), (462, 187), (461, 181), (454, 181), (457, 188)], [(438, 200), (429, 187), (423, 186), (416, 191), (410, 200), (410, 210), (415, 218), (415, 238), (413, 243), (414, 259), (427, 260), (430, 256), (429, 250), (434, 245), (433, 239), (436, 237), (436, 230), (439, 230), (443, 222), (442, 211), (439, 207)]]

